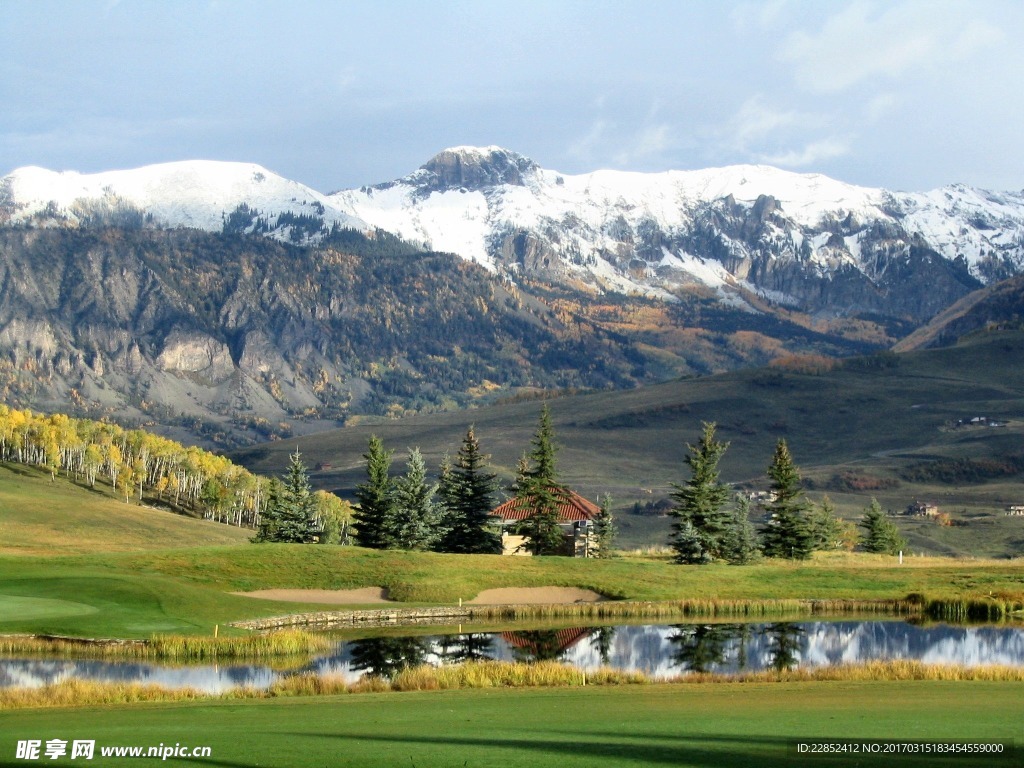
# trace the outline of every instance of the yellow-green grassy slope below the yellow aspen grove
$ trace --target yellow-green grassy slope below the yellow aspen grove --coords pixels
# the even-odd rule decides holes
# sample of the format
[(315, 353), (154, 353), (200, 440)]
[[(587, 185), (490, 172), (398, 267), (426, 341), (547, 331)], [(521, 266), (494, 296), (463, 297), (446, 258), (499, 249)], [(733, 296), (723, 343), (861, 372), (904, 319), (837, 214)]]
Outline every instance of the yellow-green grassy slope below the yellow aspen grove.
[(85, 554), (241, 544), (251, 530), (114, 498), (48, 472), (0, 464), (0, 554)]

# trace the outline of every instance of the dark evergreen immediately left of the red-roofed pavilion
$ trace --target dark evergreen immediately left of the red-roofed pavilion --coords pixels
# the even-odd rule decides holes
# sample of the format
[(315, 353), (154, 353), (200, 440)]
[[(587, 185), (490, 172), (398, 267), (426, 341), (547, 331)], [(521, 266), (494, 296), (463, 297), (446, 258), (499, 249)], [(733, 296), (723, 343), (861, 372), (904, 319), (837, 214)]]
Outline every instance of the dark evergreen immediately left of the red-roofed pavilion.
[(501, 554), (501, 523), (490, 514), (496, 506), (498, 475), (487, 469), (489, 458), (480, 451), (472, 426), (466, 431), (455, 466), (445, 457), (439, 484), (445, 528), (440, 551)]

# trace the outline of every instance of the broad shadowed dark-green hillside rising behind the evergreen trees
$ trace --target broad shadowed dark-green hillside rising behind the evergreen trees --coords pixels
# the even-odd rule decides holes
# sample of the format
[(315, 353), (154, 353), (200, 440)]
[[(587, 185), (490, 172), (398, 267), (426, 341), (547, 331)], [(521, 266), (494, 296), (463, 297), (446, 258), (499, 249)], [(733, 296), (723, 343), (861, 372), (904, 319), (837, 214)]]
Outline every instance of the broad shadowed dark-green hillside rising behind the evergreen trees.
[[(635, 502), (664, 499), (671, 483), (684, 481), (686, 443), (696, 440), (702, 421), (714, 421), (719, 437), (731, 442), (721, 463), (728, 482), (765, 486), (772, 449), (784, 437), (812, 498), (829, 494), (841, 514), (859, 517), (871, 496), (894, 510), (916, 499), (933, 501), (965, 524), (940, 530), (902, 520), (911, 548), (1012, 555), (1024, 551), (1024, 518), (1001, 513), (1007, 505), (1024, 504), (1020, 472), (961, 481), (930, 479), (928, 471), (918, 470), (950, 460), (1002, 460), (1024, 451), (1021, 359), (1024, 334), (998, 332), (955, 347), (882, 353), (830, 370), (827, 364), (794, 359), (788, 366), (565, 396), (551, 401), (561, 444), (559, 468), (564, 480), (585, 495), (610, 493), (623, 512)], [(407, 447), (419, 446), (436, 466), (443, 453), (456, 452), (466, 427), (474, 423), (483, 450), (511, 479), (516, 461), (528, 449), (541, 404), (515, 402), (379, 421), (264, 444), (234, 458), (274, 474), (298, 446), (312, 465), (332, 466), (314, 473), (314, 482), (345, 494), (364, 477), (361, 455), (371, 434), (395, 450), (395, 469), (400, 471)], [(1005, 426), (954, 428), (958, 420), (976, 416)], [(849, 473), (852, 483), (837, 477)], [(665, 541), (664, 519), (621, 519), (627, 545)]]

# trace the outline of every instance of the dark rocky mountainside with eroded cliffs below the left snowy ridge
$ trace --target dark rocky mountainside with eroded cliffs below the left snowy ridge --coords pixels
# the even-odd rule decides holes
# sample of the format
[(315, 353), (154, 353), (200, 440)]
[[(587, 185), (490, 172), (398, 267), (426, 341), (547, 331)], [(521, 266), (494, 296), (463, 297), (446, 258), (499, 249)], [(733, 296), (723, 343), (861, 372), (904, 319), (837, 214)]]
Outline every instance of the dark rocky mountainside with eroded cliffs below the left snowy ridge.
[(631, 340), (458, 257), (357, 241), (0, 228), (0, 401), (229, 445), (656, 378)]

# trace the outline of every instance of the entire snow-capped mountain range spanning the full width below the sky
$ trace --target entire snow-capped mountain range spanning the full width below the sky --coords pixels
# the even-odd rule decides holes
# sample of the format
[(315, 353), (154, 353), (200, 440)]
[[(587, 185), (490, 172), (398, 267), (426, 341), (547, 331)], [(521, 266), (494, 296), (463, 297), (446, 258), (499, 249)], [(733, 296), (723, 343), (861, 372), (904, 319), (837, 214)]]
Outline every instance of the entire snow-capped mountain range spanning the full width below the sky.
[(892, 193), (767, 166), (569, 175), (498, 146), (444, 150), (400, 179), (332, 195), (245, 163), (23, 168), (0, 180), (4, 218), (301, 244), (376, 227), (513, 279), (660, 296), (698, 287), (748, 308), (760, 297), (915, 322), (1024, 270), (1024, 193)]

